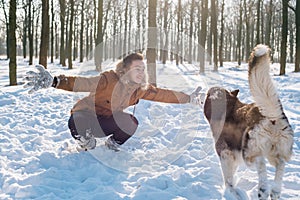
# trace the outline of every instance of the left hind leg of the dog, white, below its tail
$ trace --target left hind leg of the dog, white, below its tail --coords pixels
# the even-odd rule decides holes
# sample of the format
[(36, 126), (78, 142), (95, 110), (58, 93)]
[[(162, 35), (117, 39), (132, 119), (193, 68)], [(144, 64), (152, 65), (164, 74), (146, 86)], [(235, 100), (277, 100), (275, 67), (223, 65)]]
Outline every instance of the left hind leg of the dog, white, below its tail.
[(265, 159), (263, 157), (256, 158), (256, 169), (258, 173), (258, 199), (268, 199), (268, 176)]

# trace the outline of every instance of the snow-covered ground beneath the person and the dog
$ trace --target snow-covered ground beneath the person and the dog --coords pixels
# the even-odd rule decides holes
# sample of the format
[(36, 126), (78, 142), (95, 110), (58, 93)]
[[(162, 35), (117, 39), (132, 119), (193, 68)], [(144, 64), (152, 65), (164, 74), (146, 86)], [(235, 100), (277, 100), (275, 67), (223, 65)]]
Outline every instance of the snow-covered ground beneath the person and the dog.
[[(106, 63), (113, 68), (112, 62)], [(247, 65), (225, 63), (218, 73), (197, 74), (192, 65), (158, 64), (158, 86), (191, 93), (197, 86), (240, 89), (251, 102)], [(91, 63), (73, 70), (49, 64), (53, 75), (93, 76)], [(18, 60), (18, 82), (33, 66)], [(273, 76), (295, 132), (294, 155), (286, 165), (282, 199), (300, 199), (300, 74)], [(274, 64), (271, 74), (278, 74)], [(141, 100), (135, 108), (136, 134), (120, 152), (103, 146), (75, 152), (67, 121), (85, 93), (57, 89), (29, 95), (22, 85), (8, 87), (8, 61), (0, 61), (0, 199), (222, 199), (221, 168), (202, 108)], [(132, 112), (129, 108), (128, 112)], [(99, 144), (103, 140), (98, 141)], [(268, 166), (271, 178), (274, 168)], [(242, 166), (237, 185), (257, 199), (257, 175)], [(229, 197), (226, 197), (229, 199)]]

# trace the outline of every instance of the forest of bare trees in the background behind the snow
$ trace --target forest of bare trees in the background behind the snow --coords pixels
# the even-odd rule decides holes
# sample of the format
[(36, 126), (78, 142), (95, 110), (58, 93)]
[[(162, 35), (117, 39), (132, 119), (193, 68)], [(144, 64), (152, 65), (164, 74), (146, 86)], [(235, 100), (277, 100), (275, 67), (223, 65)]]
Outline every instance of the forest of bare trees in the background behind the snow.
[[(300, 71), (300, 0), (1, 0), (0, 54), (9, 59), (10, 85), (16, 85), (16, 56), (72, 62), (106, 59), (131, 52), (146, 55), (150, 81), (155, 60), (206, 63), (246, 62), (258, 43), (272, 59)], [(95, 56), (96, 55), (96, 56)], [(1, 66), (0, 66), (1, 67)]]

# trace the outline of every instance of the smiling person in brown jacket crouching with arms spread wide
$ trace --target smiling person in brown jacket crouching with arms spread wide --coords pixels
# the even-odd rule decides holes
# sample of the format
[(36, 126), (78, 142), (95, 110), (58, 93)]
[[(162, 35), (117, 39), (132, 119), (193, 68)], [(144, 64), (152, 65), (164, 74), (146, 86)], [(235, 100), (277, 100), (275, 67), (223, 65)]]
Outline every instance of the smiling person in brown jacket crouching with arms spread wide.
[(74, 92), (90, 92), (79, 100), (71, 110), (69, 129), (81, 149), (96, 147), (96, 138), (108, 137), (105, 145), (115, 151), (136, 131), (138, 120), (124, 109), (136, 105), (139, 99), (164, 103), (202, 104), (204, 94), (199, 87), (191, 95), (183, 92), (157, 88), (148, 83), (144, 58), (139, 53), (125, 57), (115, 70), (96, 77), (52, 77), (44, 67), (37, 65), (39, 73), (28, 72), (26, 86), (29, 91), (54, 87)]

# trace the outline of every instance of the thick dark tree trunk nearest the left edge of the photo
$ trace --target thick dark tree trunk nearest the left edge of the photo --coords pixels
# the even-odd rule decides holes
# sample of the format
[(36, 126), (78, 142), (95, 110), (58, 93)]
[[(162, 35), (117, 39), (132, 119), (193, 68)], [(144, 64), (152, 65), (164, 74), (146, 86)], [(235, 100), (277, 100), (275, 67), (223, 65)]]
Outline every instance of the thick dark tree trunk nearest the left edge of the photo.
[(9, 85), (17, 85), (16, 0), (9, 1)]

